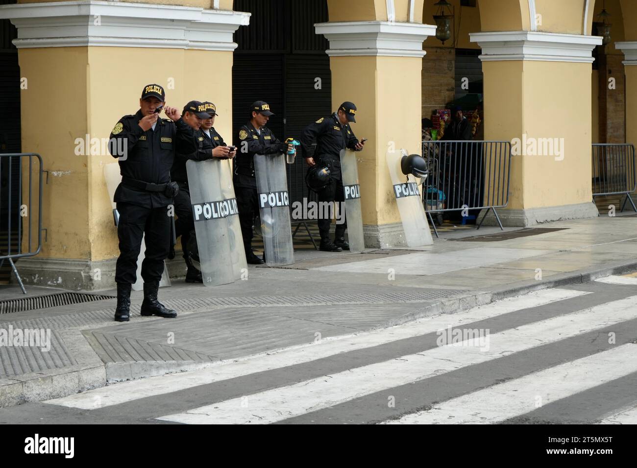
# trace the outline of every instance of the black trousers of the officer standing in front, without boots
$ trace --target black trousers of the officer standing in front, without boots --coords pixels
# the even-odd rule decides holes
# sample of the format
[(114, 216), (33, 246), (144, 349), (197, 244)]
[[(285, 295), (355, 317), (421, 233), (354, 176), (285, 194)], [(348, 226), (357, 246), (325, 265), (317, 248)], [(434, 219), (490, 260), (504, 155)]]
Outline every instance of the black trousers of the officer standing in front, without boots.
[(146, 258), (141, 264), (141, 278), (145, 283), (159, 283), (168, 257), (170, 218), (168, 207), (144, 208), (131, 203), (117, 203), (120, 215), (117, 225), (120, 256), (115, 266), (115, 281), (132, 284), (137, 281), (137, 258), (141, 238), (145, 234)]

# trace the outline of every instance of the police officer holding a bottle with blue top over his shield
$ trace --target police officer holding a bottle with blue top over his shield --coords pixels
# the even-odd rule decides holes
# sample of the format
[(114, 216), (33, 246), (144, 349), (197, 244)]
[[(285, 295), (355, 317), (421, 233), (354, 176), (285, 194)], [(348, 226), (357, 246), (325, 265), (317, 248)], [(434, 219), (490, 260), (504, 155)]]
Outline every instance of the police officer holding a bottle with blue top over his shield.
[(234, 162), (233, 180), (245, 257), (248, 263), (258, 265), (262, 264), (263, 260), (252, 252), (252, 225), (255, 215), (259, 212), (254, 156), (282, 153), (294, 150), (294, 146), (281, 143), (266, 127), (269, 118), (274, 115), (267, 103), (263, 101), (252, 103), (250, 112), (252, 113), (250, 121), (239, 129), (240, 143)]

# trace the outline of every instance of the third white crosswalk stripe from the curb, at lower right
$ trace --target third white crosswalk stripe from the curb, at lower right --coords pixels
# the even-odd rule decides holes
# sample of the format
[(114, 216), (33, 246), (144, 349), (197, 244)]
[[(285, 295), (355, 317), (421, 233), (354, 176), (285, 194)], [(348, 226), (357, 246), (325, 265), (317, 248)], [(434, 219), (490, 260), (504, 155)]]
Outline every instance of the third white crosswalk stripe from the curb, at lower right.
[(403, 416), (394, 424), (489, 424), (521, 416), (637, 371), (637, 346), (576, 359), (443, 402), (430, 411)]

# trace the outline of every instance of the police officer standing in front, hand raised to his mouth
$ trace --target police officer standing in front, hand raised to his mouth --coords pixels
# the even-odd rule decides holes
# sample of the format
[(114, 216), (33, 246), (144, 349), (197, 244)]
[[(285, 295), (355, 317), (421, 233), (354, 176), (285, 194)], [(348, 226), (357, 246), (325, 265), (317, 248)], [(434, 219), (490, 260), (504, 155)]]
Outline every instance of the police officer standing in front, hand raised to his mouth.
[[(115, 267), (117, 282), (117, 322), (129, 321), (131, 285), (137, 280), (137, 258), (145, 234), (146, 253), (141, 264), (144, 280), (144, 301), (141, 315), (175, 317), (157, 300), (159, 280), (168, 256), (170, 218), (168, 205), (178, 190), (171, 182), (170, 168), (175, 150), (190, 153), (196, 150), (192, 129), (174, 107), (164, 107), (165, 94), (160, 85), (145, 86), (141, 92), (140, 110), (125, 115), (115, 124), (110, 135), (109, 151), (119, 158), (122, 182), (115, 190), (119, 223), (120, 256)], [(159, 118), (159, 112), (169, 118)]]

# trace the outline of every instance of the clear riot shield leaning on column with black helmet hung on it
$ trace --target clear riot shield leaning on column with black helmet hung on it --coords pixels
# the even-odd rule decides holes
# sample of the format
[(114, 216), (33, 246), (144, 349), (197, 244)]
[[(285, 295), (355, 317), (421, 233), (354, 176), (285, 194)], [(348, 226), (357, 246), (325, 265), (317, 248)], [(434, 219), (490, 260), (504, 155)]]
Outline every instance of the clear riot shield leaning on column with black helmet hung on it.
[(434, 243), (427, 222), (425, 207), (418, 189), (418, 182), (412, 174), (405, 176), (400, 168), (400, 161), (404, 150), (387, 153), (387, 166), (392, 178), (392, 189), (396, 197), (396, 204), (403, 221), (405, 242), (409, 247), (420, 247)]

